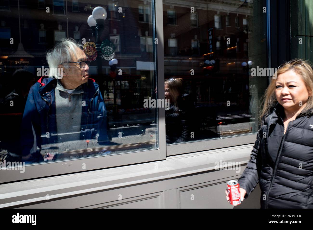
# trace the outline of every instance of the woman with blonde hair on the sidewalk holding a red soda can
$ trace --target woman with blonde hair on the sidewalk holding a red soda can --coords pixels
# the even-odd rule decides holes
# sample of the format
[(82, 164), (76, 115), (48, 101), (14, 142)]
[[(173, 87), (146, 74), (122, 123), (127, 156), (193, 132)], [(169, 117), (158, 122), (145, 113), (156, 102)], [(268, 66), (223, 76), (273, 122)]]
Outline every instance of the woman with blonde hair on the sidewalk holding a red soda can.
[(251, 159), (238, 180), (242, 200), (260, 183), (261, 208), (313, 208), (312, 92), (306, 61), (287, 62), (274, 74)]

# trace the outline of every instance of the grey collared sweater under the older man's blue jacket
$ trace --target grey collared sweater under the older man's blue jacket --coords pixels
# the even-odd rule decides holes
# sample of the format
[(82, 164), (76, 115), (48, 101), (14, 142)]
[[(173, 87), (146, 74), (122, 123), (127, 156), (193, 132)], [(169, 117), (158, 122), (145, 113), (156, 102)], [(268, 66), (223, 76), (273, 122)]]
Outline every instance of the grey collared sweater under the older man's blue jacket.
[[(80, 139), (80, 122), (82, 112), (82, 86), (68, 93), (57, 80), (55, 88), (55, 108), (58, 142)], [(65, 134), (67, 133), (67, 134)]]

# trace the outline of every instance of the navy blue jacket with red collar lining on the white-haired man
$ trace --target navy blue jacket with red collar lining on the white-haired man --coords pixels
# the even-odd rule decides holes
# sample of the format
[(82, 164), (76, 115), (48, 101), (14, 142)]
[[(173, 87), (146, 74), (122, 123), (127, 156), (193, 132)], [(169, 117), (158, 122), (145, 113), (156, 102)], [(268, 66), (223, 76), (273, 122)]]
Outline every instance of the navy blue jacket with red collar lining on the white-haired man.
[[(57, 79), (42, 77), (29, 90), (21, 127), (22, 156), (36, 153), (37, 147), (41, 149), (43, 144), (58, 141), (57, 135), (53, 135), (57, 133), (56, 85)], [(98, 84), (88, 79), (82, 84), (82, 89), (85, 106), (82, 106), (81, 112), (80, 139), (91, 139), (100, 133), (101, 140), (108, 140), (105, 103)]]

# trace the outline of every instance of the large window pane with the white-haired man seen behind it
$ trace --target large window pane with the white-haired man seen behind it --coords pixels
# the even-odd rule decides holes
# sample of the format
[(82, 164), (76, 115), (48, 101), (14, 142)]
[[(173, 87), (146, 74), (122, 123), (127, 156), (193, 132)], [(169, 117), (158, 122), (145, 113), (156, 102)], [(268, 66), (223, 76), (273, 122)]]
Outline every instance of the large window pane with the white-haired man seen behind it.
[[(99, 3), (73, 1), (67, 12), (54, 0), (50, 14), (37, 4), (3, 11), (0, 160), (44, 163), (158, 148), (155, 29), (142, 23), (154, 21), (154, 2)], [(85, 8), (75, 12), (78, 4)], [(98, 39), (87, 21), (97, 6), (116, 13), (102, 21)], [(120, 20), (109, 20), (116, 15)]]

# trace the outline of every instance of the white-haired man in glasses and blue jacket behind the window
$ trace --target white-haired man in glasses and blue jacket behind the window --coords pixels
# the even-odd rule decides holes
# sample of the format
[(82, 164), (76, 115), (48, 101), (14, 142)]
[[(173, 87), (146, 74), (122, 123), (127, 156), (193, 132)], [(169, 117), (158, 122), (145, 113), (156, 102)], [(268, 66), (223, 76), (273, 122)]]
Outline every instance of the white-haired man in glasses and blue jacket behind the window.
[[(31, 87), (23, 114), (24, 161), (43, 161), (42, 144), (95, 136), (108, 140), (104, 100), (98, 84), (89, 78), (90, 62), (81, 48), (74, 39), (64, 38), (48, 52), (49, 78)], [(104, 124), (101, 130), (99, 123)]]

